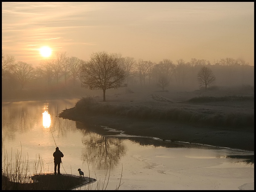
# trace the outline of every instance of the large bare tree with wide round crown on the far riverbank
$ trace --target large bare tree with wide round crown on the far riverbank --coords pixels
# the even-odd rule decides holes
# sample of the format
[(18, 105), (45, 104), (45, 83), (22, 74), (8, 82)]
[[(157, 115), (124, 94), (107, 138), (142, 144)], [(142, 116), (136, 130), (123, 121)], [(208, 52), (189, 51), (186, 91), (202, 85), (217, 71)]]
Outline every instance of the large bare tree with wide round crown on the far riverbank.
[(125, 72), (118, 64), (118, 58), (107, 52), (97, 52), (90, 55), (90, 61), (81, 66), (82, 87), (101, 89), (103, 101), (106, 101), (107, 89), (117, 89), (122, 86)]

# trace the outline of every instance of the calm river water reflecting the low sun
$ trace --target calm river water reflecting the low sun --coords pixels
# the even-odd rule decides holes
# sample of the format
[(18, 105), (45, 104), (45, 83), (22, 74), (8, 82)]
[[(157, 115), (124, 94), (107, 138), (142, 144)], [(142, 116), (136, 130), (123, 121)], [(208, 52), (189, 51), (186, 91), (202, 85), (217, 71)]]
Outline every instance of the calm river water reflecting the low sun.
[[(79, 175), (81, 168), (97, 179), (90, 189), (254, 190), (253, 151), (168, 144), (58, 117), (77, 101), (2, 102), (2, 166), (4, 156), (21, 153), (30, 175), (53, 173), (58, 146), (64, 153), (61, 173)], [(86, 188), (74, 190), (80, 189)]]

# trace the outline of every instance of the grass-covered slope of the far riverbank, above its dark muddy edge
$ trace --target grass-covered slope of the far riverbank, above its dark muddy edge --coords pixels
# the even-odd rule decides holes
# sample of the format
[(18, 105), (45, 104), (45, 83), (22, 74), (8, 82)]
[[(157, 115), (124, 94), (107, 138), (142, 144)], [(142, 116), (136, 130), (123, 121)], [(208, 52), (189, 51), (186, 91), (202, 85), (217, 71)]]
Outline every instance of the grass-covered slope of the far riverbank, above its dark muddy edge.
[[(234, 110), (216, 110), (212, 103), (216, 102), (243, 102), (251, 101), (254, 103), (254, 97), (245, 96), (226, 96), (226, 97), (198, 97), (185, 102), (168, 107), (163, 107), (157, 102), (155, 105), (148, 104), (130, 104), (118, 105), (111, 102), (98, 102), (93, 97), (82, 98), (79, 100), (73, 112), (83, 115), (114, 115), (116, 117), (129, 117), (140, 120), (168, 120), (194, 126), (218, 126), (229, 129), (254, 129), (254, 113), (243, 113)], [(194, 104), (203, 104), (195, 107)], [(213, 108), (215, 107), (215, 108)], [(226, 108), (229, 108), (227, 106)], [(72, 112), (72, 113), (73, 113)], [(72, 114), (64, 110), (59, 117), (72, 119)], [(75, 117), (74, 117), (75, 118)]]

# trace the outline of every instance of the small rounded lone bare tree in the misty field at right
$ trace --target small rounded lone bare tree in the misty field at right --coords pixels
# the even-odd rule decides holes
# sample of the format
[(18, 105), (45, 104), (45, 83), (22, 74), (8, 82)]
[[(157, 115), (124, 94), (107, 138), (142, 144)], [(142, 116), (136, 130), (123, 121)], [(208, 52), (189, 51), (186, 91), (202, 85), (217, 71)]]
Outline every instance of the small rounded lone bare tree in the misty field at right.
[(197, 80), (200, 86), (205, 86), (206, 90), (207, 86), (215, 81), (215, 75), (211, 69), (203, 66), (197, 74)]

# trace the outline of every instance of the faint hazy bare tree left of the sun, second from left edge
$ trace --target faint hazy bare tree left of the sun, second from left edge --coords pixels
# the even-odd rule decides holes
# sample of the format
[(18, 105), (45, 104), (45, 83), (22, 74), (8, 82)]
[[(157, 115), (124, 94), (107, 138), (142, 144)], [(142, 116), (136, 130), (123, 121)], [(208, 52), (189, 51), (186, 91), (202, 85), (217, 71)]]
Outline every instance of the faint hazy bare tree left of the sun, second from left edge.
[(21, 89), (34, 78), (34, 68), (25, 62), (17, 62), (16, 65), (12, 66), (12, 72), (20, 82)]

